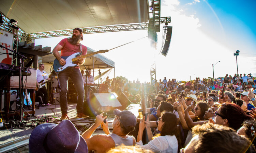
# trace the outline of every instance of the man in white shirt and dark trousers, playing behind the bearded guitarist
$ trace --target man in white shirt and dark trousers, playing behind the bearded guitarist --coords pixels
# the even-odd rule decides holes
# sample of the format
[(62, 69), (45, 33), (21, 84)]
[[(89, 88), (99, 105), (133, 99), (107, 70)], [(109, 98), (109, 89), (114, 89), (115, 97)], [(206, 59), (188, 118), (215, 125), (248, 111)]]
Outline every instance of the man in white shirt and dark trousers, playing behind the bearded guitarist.
[[(39, 82), (41, 82), (42, 80), (51, 80), (50, 78), (47, 77), (46, 72), (44, 71), (44, 64), (40, 63), (39, 64), (39, 68), (36, 72), (36, 86), (39, 86)], [(50, 106), (51, 104), (48, 103), (48, 95), (47, 95), (47, 89), (45, 87), (45, 84), (42, 85), (43, 87), (40, 88), (38, 91), (36, 91), (36, 98), (38, 98), (39, 96), (42, 97), (43, 103), (41, 102), (40, 99), (38, 99), (37, 101), (39, 101), (39, 104), (41, 106)]]

